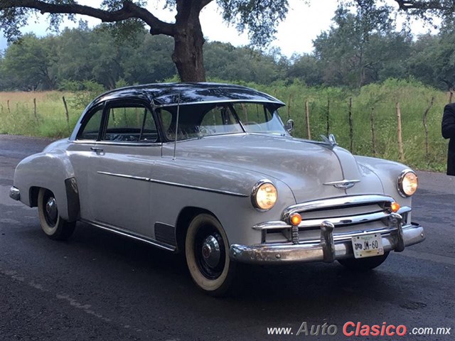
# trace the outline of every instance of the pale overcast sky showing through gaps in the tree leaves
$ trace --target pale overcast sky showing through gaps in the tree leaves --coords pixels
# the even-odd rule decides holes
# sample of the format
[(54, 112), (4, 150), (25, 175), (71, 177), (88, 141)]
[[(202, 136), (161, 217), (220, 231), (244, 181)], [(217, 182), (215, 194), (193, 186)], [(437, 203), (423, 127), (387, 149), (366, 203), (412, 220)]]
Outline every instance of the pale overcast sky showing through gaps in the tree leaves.
[[(80, 0), (80, 4), (87, 6), (96, 6), (100, 4), (100, 0)], [(395, 1), (390, 0), (391, 4)], [(163, 9), (164, 1), (149, 1), (147, 7), (149, 11), (153, 11), (158, 18), (164, 21), (173, 22), (175, 13)], [(153, 3), (153, 4), (152, 4)], [(290, 57), (293, 53), (310, 53), (313, 50), (312, 40), (316, 38), (322, 31), (327, 31), (331, 26), (331, 18), (336, 9), (336, 0), (312, 0), (310, 6), (304, 4), (302, 0), (289, 0), (289, 13), (284, 22), (278, 26), (276, 39), (271, 46), (276, 46), (282, 50), (284, 55)], [(87, 16), (79, 16), (89, 22), (90, 26), (95, 26), (100, 23), (100, 20)], [(232, 26), (227, 26), (223, 23), (223, 19), (218, 13), (215, 1), (210, 3), (203, 9), (200, 14), (200, 21), (203, 28), (203, 33), (208, 40), (223, 41), (232, 45), (247, 45), (247, 34), (239, 34)], [(65, 21), (63, 27), (77, 26), (77, 23)], [(39, 15), (30, 20), (28, 26), (21, 31), (23, 33), (33, 32), (37, 36), (45, 36), (48, 25), (45, 16)], [(63, 28), (62, 27), (62, 28)], [(422, 28), (422, 23), (416, 23), (412, 26), (413, 33), (424, 33), (427, 28)], [(6, 39), (0, 36), (0, 49), (6, 48)]]

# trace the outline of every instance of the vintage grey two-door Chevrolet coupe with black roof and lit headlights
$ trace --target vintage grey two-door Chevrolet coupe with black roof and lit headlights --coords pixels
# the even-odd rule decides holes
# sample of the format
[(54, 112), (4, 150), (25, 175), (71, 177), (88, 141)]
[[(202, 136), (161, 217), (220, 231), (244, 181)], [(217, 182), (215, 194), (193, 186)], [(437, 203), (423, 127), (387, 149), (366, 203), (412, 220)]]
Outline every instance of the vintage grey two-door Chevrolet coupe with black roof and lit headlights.
[(10, 196), (51, 239), (77, 221), (183, 252), (200, 289), (225, 293), (235, 264), (380, 265), (422, 242), (417, 175), (353, 156), (333, 136), (296, 139), (284, 103), (247, 87), (154, 84), (102, 94), (69, 139), (16, 168)]

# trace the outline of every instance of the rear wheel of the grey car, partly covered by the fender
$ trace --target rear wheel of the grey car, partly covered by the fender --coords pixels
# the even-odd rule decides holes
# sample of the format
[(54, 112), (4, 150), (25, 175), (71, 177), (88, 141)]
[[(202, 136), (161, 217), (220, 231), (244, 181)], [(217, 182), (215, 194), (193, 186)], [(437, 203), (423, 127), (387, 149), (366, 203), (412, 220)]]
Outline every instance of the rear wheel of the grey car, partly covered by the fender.
[(41, 229), (50, 239), (65, 240), (73, 234), (76, 223), (60, 217), (55, 195), (45, 188), (38, 193), (38, 215)]

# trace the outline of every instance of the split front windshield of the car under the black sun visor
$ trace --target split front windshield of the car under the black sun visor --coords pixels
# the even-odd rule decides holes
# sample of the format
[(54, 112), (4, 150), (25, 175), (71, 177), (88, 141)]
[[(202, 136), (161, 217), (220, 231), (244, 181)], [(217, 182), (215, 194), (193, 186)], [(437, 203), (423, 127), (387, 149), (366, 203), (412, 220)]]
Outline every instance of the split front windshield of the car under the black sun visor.
[(282, 120), (267, 104), (235, 102), (220, 104), (191, 104), (159, 109), (168, 140), (223, 134), (256, 133), (286, 135)]

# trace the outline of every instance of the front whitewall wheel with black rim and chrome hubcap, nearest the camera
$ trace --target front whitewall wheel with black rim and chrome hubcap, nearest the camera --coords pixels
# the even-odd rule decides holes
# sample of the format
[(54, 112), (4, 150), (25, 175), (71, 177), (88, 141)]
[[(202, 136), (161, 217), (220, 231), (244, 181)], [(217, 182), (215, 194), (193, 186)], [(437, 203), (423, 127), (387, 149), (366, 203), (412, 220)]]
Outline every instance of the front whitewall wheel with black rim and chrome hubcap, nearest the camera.
[(185, 239), (186, 264), (196, 286), (210, 296), (228, 293), (235, 274), (228, 237), (213, 215), (197, 215)]

